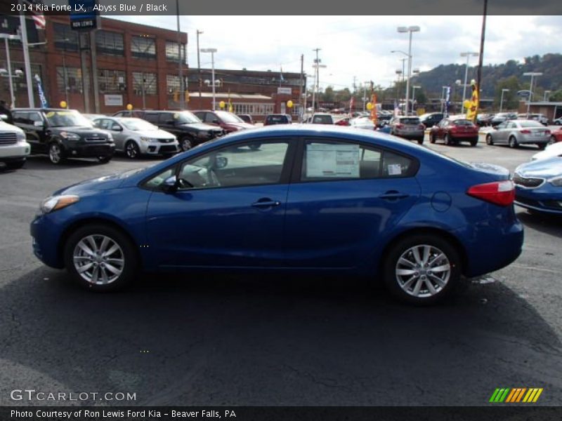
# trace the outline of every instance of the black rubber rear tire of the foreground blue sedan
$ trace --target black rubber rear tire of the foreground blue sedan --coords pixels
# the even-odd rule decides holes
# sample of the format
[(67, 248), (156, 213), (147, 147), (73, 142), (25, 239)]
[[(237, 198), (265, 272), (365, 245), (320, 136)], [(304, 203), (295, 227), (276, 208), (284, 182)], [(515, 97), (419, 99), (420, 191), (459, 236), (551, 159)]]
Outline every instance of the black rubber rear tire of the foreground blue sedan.
[[(412, 281), (412, 284), (410, 285), (414, 288), (412, 289), (411, 293), (408, 293), (403, 288), (403, 286), (401, 286), (401, 283), (405, 286), (406, 289), (408, 289), (410, 286), (406, 285), (407, 281), (403, 282), (403, 279), (399, 279), (398, 274), (396, 273), (398, 269), (398, 260), (400, 260), (403, 255), (408, 255), (412, 248), (421, 246), (430, 246), (432, 251), (438, 250), (438, 252), (443, 253), (446, 260), (448, 261), (449, 275), (443, 285), (438, 286), (439, 289), (437, 289), (435, 288), (435, 281), (433, 281), (432, 278), (428, 276), (426, 279), (422, 279), (423, 276), (426, 276), (426, 274), (421, 273), (427, 273), (424, 272), (427, 269), (424, 269), (423, 267), (419, 269), (412, 267), (412, 270), (416, 270), (419, 272), (416, 272), (416, 274), (418, 274), (417, 278), (414, 278), (414, 281)], [(437, 255), (438, 253), (434, 254)], [(431, 258), (433, 258), (434, 254), (429, 255), (429, 258), (427, 259), (428, 262), (431, 262)], [(421, 255), (421, 258), (423, 258), (423, 255)], [(437, 260), (434, 264), (440, 265), (439, 267), (446, 266), (445, 260)], [(438, 274), (439, 272), (435, 273)], [(445, 276), (443, 272), (441, 273), (443, 274), (443, 276)], [(449, 241), (433, 234), (413, 234), (412, 236), (407, 236), (403, 239), (400, 239), (391, 246), (391, 248), (388, 250), (388, 253), (386, 253), (386, 255), (384, 256), (383, 276), (386, 288), (388, 288), (388, 291), (394, 297), (398, 298), (398, 300), (408, 302), (410, 304), (433, 305), (444, 300), (458, 286), (461, 274), (461, 260), (456, 248), (452, 246)], [(436, 293), (431, 294), (431, 292), (429, 291), (428, 280), (433, 281), (431, 283), (434, 290), (436, 290)], [(420, 283), (421, 285), (421, 288), (419, 288), (419, 293), (421, 293), (421, 295), (424, 295), (425, 292), (429, 295), (413, 295), (415, 292), (414, 284), (417, 283)]]

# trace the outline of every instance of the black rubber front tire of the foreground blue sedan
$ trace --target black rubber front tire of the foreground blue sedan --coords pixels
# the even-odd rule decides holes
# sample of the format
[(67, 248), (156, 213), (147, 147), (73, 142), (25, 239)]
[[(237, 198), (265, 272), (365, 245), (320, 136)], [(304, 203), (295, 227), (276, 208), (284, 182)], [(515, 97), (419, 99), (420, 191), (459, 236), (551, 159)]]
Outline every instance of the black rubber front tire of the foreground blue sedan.
[[(100, 236), (106, 236), (110, 238), (113, 242), (115, 242), (120, 250), (118, 250), (119, 254), (123, 255), (124, 264), (122, 267), (122, 272), (117, 276), (117, 278), (110, 283), (93, 283), (84, 279), (77, 271), (77, 268), (74, 265), (74, 250), (77, 249), (77, 244), (88, 236), (93, 236), (94, 239), (98, 239), (98, 243), (100, 243)], [(84, 227), (78, 228), (68, 237), (65, 248), (64, 248), (64, 262), (65, 267), (68, 273), (72, 276), (72, 279), (77, 282), (80, 286), (84, 288), (88, 288), (89, 290), (105, 293), (115, 290), (120, 290), (127, 286), (131, 281), (133, 281), (137, 268), (140, 263), (140, 258), (138, 257), (138, 250), (131, 242), (128, 236), (126, 236), (123, 232), (119, 231), (114, 227), (109, 225), (103, 224), (91, 224), (91, 225), (84, 225)], [(119, 255), (118, 254), (118, 255)], [(115, 256), (115, 252), (112, 254)], [(112, 256), (110, 255), (110, 256)], [(109, 258), (109, 260), (112, 260)], [(113, 259), (115, 260), (115, 259)], [(105, 262), (95, 262), (96, 266), (99, 265), (106, 265)], [(86, 263), (87, 265), (87, 263)], [(105, 269), (104, 269), (105, 270)], [(84, 272), (88, 272), (87, 270)], [(111, 272), (107, 271), (108, 274)], [(93, 273), (91, 274), (93, 275)]]

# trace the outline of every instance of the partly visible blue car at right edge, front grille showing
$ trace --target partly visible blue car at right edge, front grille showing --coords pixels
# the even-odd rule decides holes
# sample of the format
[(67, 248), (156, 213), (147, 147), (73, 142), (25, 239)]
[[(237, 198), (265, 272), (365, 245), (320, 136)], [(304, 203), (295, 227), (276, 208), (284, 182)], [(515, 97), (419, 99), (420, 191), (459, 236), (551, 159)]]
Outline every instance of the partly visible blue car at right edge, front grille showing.
[(514, 173), (515, 203), (530, 211), (562, 215), (562, 158), (523, 163)]

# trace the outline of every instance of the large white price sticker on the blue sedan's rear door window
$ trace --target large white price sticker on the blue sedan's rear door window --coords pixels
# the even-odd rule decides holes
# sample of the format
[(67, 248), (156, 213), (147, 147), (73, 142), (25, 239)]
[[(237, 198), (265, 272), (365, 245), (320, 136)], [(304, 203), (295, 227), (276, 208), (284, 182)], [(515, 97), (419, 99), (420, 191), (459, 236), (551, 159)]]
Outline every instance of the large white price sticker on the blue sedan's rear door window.
[(307, 178), (359, 178), (359, 145), (306, 145)]

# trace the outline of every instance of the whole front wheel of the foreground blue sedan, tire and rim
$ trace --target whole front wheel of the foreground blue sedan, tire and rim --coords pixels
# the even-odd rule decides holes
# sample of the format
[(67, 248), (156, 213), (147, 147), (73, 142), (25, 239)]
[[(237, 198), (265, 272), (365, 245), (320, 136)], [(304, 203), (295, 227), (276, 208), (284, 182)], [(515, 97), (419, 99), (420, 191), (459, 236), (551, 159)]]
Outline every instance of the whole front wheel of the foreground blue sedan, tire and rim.
[(114, 227), (85, 225), (65, 244), (65, 267), (79, 285), (98, 292), (124, 288), (138, 267), (136, 248)]

